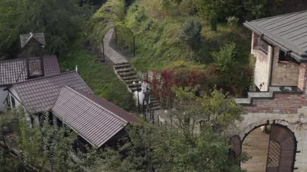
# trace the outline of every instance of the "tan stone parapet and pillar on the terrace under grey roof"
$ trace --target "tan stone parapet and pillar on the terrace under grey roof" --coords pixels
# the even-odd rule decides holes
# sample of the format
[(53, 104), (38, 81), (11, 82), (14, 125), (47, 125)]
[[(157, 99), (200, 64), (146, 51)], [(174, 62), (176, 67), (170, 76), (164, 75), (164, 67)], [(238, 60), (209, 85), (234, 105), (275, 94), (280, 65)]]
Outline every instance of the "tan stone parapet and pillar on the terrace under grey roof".
[(279, 48), (274, 48), (272, 85), (297, 86), (299, 65), (292, 61), (278, 61)]

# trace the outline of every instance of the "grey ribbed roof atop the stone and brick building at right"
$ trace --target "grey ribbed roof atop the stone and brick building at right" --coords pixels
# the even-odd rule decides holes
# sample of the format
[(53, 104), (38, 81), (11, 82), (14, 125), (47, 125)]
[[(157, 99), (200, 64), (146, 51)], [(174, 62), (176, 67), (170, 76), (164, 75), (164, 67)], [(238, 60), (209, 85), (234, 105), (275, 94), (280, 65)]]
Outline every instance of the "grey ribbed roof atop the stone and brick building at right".
[(245, 22), (244, 26), (278, 45), (296, 60), (307, 59), (307, 11)]

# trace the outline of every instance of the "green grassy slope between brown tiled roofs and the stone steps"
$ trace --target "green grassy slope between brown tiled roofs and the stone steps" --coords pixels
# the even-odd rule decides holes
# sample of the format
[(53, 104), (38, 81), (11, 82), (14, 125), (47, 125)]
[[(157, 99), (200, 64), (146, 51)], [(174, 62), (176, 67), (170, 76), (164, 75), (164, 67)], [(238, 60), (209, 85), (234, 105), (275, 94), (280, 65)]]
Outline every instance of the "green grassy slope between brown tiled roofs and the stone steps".
[(78, 50), (60, 59), (63, 71), (74, 70), (78, 65), (81, 77), (89, 85), (91, 90), (113, 104), (126, 111), (135, 108), (132, 93), (128, 92), (126, 85), (114, 74), (111, 66), (98, 62), (98, 59), (90, 55), (86, 50)]

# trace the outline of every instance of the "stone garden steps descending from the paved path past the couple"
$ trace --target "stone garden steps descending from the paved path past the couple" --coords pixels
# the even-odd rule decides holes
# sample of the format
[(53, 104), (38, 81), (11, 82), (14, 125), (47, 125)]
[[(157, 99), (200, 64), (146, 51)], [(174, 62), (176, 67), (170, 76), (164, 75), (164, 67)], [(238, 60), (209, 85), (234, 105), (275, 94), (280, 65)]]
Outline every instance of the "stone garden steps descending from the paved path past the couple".
[[(139, 78), (134, 67), (131, 66), (129, 62), (115, 64), (113, 68), (115, 73), (125, 82), (132, 93), (137, 90), (137, 87), (139, 89), (138, 91), (141, 91), (141, 83), (138, 83)], [(136, 84), (133, 84), (133, 81), (135, 81)], [(154, 96), (150, 96), (150, 107), (154, 111), (161, 109), (159, 102)]]

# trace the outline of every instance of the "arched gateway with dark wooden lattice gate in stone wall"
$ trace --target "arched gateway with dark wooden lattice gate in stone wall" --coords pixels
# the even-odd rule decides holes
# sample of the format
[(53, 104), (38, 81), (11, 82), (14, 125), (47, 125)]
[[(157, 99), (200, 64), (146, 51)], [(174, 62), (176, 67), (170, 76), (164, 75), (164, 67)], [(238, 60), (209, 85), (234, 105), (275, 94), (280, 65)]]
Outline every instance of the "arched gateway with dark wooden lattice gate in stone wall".
[(293, 171), (296, 153), (294, 133), (284, 125), (262, 124), (254, 127), (242, 139), (241, 149), (251, 159), (241, 163), (247, 171)]

